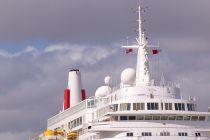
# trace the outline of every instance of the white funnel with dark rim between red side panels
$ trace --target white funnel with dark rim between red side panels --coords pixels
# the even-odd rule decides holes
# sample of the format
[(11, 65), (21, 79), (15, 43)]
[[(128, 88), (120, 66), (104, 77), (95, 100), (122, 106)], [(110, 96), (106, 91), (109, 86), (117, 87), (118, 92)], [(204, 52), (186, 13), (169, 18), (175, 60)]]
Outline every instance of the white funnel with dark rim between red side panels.
[(71, 91), (70, 107), (73, 107), (82, 101), (82, 82), (81, 74), (78, 69), (72, 69), (69, 71), (68, 89)]

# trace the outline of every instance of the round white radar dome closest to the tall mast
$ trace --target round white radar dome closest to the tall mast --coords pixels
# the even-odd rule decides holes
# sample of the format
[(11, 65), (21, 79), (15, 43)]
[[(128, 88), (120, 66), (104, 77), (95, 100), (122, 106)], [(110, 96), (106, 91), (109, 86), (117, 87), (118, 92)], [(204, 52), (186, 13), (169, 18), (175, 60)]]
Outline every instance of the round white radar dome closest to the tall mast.
[(136, 77), (136, 71), (132, 68), (126, 68), (121, 73), (121, 82), (125, 85), (131, 85), (134, 83)]

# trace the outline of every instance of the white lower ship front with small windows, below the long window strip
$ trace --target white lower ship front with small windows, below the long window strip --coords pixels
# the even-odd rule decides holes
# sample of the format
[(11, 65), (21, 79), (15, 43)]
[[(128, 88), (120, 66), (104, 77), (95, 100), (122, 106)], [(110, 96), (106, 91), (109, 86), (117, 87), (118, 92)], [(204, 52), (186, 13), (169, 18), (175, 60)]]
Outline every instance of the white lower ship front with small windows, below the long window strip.
[[(210, 140), (206, 122), (107, 122), (96, 123), (80, 140)], [(206, 128), (206, 129), (203, 129)], [(148, 136), (144, 132), (150, 132)], [(168, 132), (168, 133), (167, 133)], [(132, 133), (132, 136), (128, 136)], [(144, 134), (142, 134), (144, 133)], [(179, 136), (179, 133), (186, 133)], [(161, 136), (162, 134), (162, 136)], [(199, 134), (196, 135), (196, 134)]]

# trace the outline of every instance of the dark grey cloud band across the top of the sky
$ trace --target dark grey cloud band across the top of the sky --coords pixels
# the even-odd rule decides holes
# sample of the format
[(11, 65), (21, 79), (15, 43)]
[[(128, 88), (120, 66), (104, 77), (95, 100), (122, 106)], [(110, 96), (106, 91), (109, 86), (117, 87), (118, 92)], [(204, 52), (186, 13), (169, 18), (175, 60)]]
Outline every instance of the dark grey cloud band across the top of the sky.
[[(208, 0), (143, 1), (151, 40), (196, 37), (209, 40)], [(110, 44), (134, 36), (138, 0), (2, 0), (1, 42), (46, 40), (82, 44)]]

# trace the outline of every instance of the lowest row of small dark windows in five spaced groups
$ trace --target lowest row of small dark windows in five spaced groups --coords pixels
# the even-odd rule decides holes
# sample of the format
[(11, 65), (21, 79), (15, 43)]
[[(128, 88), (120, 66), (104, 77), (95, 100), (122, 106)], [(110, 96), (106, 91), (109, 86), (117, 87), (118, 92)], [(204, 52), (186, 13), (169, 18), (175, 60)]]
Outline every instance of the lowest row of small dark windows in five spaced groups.
[[(142, 136), (152, 136), (152, 132), (142, 132), (141, 133)], [(129, 132), (126, 134), (127, 137), (132, 137), (133, 133)], [(160, 136), (170, 136), (170, 132), (160, 132)], [(178, 136), (188, 136), (187, 132), (178, 132)], [(196, 137), (200, 137), (201, 134), (200, 133), (195, 133)]]

